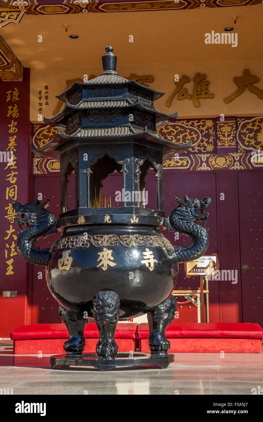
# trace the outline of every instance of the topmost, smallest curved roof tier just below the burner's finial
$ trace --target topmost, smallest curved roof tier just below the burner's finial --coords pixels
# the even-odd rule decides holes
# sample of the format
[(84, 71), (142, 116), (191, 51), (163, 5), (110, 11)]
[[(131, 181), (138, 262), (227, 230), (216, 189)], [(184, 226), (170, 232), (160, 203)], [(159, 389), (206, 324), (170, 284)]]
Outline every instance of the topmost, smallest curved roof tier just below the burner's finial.
[(140, 89), (141, 91), (144, 91), (146, 93), (152, 93), (153, 94), (153, 100), (157, 100), (158, 98), (162, 97), (165, 93), (161, 91), (156, 91), (156, 89), (152, 89), (149, 87), (146, 87), (145, 85), (138, 84), (136, 81), (129, 81), (129, 79), (122, 78), (122, 76), (119, 76), (118, 74), (106, 74), (106, 75), (100, 75), (97, 78), (90, 79), (87, 82), (74, 82), (74, 84), (71, 85), (71, 87), (65, 89), (61, 94), (56, 95), (56, 97), (59, 100), (66, 101), (67, 97), (71, 94), (71, 92), (74, 92), (77, 87), (85, 88), (88, 86), (99, 88), (101, 86), (109, 84), (111, 88), (118, 87), (119, 85), (127, 84), (131, 87), (134, 87), (136, 89)]

